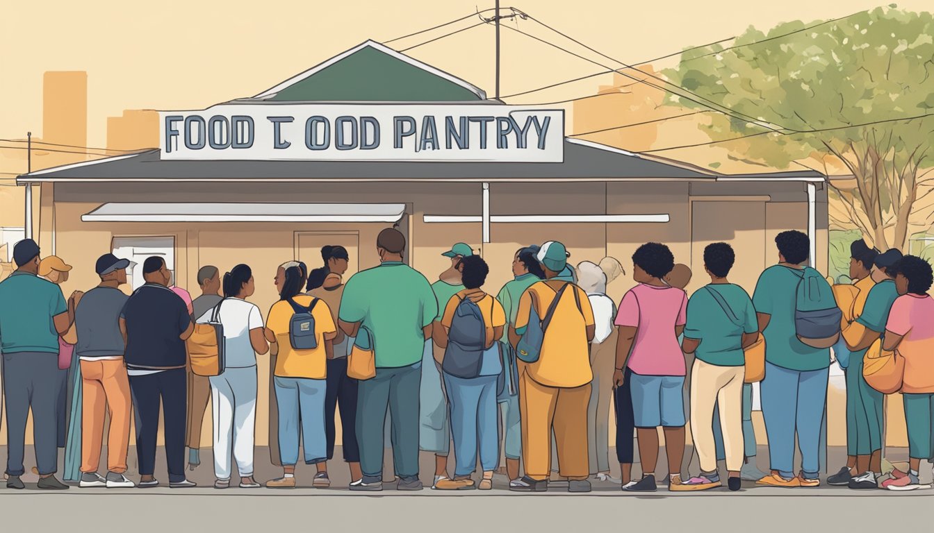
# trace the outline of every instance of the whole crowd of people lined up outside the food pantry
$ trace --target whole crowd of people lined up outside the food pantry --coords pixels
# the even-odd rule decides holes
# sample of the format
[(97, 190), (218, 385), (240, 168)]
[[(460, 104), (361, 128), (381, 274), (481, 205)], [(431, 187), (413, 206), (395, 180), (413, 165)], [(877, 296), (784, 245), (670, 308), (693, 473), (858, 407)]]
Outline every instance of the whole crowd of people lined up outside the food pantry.
[[(302, 262), (283, 263), (275, 276), (279, 300), (263, 319), (250, 302), (255, 279), (246, 264), (222, 276), (215, 266), (201, 268), (202, 294), (192, 300), (173, 284), (163, 258), (151, 257), (142, 265), (145, 285), (127, 296), (120, 287), (129, 261), (105, 254), (95, 265), (100, 284), (65, 300), (59, 285), (71, 267), (55, 256), (40, 259), (27, 239), (14, 247), (17, 270), (0, 282), (7, 488), (24, 486), (30, 411), (41, 489), (68, 488), (55, 476), (60, 447), (65, 480), (81, 487), (159, 486), (160, 410), (168, 485), (194, 486), (185, 449), (197, 466), (208, 399), (214, 486), (221, 489), (293, 488), (300, 460), (316, 466), (313, 486), (330, 486), (337, 416), (351, 491), (383, 489), (387, 439), (403, 491), (423, 488), (419, 452), (435, 456), (431, 486), (438, 490), (490, 490), (502, 472), (518, 492), (546, 491), (555, 475), (570, 492), (590, 491), (592, 479), (656, 491), (658, 428), (671, 491), (735, 491), (742, 480), (814, 487), (821, 484), (831, 345), (846, 372), (848, 463), (826, 483), (921, 488), (921, 461), (934, 457), (930, 265), (856, 241), (854, 282), (831, 288), (804, 266), (807, 235), (784, 231), (775, 244), (778, 262), (751, 297), (729, 282), (735, 254), (728, 244), (706, 246), (710, 283), (690, 297), (690, 269), (675, 264), (666, 245), (641, 245), (632, 255), (636, 285), (617, 305), (606, 294), (624, 274), (616, 259), (574, 268), (559, 242), (523, 247), (513, 258), (515, 278), (494, 295), (486, 287), (490, 266), (470, 245), (452, 246), (444, 254), (450, 267), (430, 283), (404, 262), (403, 234), (387, 229), (376, 242), (379, 266), (347, 280), (351, 258), (342, 246), (322, 248), (323, 266), (310, 272)], [(833, 308), (815, 311), (802, 298), (812, 308), (821, 299)], [(802, 316), (832, 317), (832, 335), (809, 334)], [(201, 325), (222, 332), (223, 363), (207, 376), (192, 372), (191, 343)], [(253, 468), (257, 355), (267, 353), (270, 454), (282, 475), (261, 484)], [(866, 378), (883, 359), (900, 369), (910, 455), (907, 471), (885, 475), (883, 399), (895, 390)], [(769, 472), (756, 466), (754, 382), (761, 384)], [(620, 478), (610, 473), (611, 416)], [(138, 481), (125, 475), (131, 420)], [(680, 471), (688, 420), (700, 459), (694, 476)]]

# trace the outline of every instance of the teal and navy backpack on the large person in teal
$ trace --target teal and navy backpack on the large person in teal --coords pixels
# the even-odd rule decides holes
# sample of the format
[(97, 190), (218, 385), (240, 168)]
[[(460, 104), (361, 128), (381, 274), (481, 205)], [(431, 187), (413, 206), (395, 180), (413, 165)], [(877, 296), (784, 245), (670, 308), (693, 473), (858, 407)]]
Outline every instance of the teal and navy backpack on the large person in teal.
[(833, 297), (833, 289), (819, 272), (804, 267), (795, 296), (795, 333), (801, 343), (813, 348), (829, 348), (840, 339), (843, 312)]

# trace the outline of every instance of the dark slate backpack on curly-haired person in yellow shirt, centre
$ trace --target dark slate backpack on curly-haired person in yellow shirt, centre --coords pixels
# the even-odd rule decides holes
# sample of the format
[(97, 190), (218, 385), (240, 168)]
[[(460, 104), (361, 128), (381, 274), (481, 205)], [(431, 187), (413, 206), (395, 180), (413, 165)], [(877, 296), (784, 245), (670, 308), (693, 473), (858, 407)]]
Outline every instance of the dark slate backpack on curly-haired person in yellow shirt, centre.
[[(490, 308), (492, 308), (490, 297)], [(480, 375), (483, 352), (487, 347), (487, 324), (480, 306), (470, 298), (461, 298), (451, 328), (441, 370), (454, 377), (472, 379)]]

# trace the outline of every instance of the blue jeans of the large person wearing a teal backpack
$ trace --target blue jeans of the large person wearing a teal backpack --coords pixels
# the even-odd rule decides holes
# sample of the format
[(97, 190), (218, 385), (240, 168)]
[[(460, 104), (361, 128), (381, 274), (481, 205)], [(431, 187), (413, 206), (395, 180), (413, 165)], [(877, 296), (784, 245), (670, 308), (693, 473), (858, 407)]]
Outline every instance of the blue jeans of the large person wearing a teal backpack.
[(759, 391), (770, 468), (785, 479), (795, 477), (796, 432), (804, 477), (818, 477), (828, 375), (828, 369), (799, 372), (765, 363), (765, 379)]

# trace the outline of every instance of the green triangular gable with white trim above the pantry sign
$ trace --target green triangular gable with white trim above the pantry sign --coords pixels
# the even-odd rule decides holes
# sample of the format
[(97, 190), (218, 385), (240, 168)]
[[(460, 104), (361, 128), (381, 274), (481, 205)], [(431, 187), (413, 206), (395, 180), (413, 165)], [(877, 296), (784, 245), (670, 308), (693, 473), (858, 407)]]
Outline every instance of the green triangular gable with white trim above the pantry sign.
[(375, 41), (255, 96), (272, 102), (475, 102), (484, 91)]

